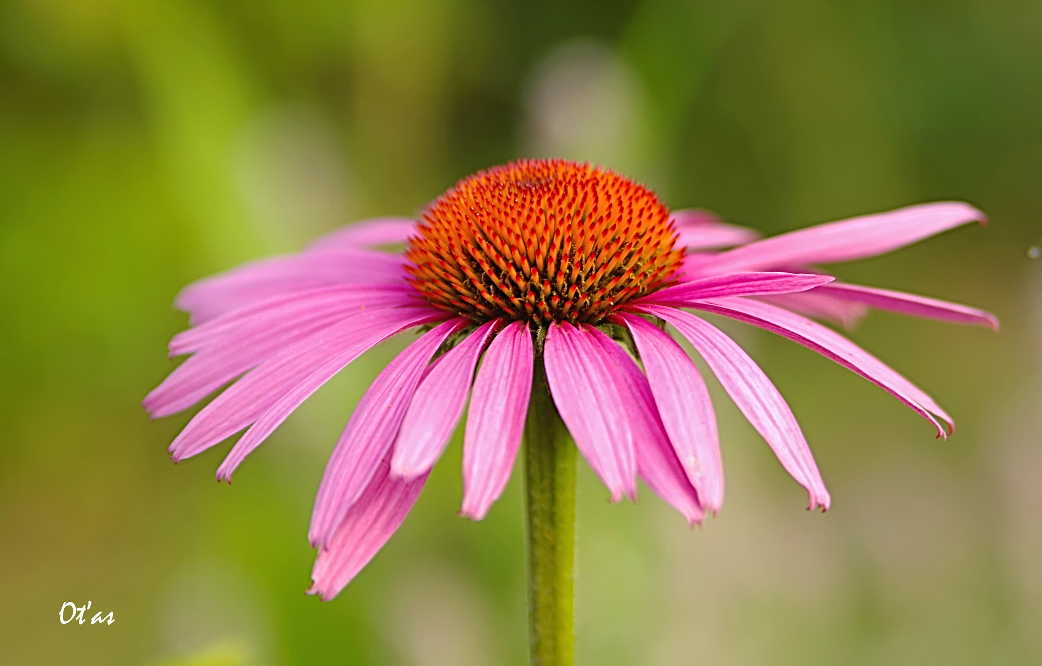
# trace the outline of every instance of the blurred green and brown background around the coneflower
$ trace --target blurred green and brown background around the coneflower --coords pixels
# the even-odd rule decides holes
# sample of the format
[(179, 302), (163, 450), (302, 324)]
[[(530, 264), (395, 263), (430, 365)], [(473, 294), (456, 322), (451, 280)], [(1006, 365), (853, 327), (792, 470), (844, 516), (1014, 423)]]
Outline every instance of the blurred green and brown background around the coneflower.
[[(728, 495), (688, 529), (580, 470), (582, 664), (1042, 664), (1042, 3), (0, 0), (0, 664), (526, 663), (518, 479), (455, 515), (460, 446), (334, 601), (311, 502), (374, 350), (235, 475), (176, 468), (177, 290), (477, 169), (590, 159), (774, 233), (937, 199), (991, 216), (852, 281), (994, 311), (873, 314), (877, 388), (728, 325), (803, 424), (825, 515), (716, 392)], [(400, 343), (399, 343), (400, 344)], [(63, 625), (65, 601), (114, 612)]]

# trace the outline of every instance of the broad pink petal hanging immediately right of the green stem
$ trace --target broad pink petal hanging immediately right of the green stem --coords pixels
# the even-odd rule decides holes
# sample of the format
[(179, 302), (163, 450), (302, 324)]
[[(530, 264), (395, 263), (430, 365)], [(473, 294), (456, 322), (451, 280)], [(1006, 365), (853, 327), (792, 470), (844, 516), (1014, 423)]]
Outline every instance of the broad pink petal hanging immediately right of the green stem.
[(543, 363), (553, 403), (575, 445), (607, 486), (612, 501), (619, 501), (637, 493), (635, 426), (622, 409), (623, 378), (601, 338), (606, 336), (585, 324), (550, 324)]

